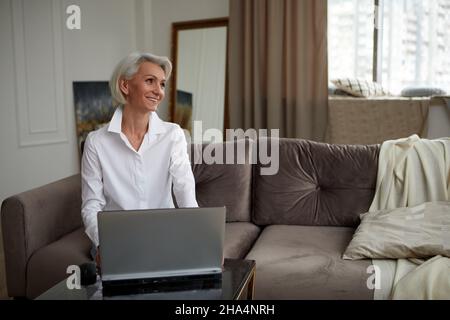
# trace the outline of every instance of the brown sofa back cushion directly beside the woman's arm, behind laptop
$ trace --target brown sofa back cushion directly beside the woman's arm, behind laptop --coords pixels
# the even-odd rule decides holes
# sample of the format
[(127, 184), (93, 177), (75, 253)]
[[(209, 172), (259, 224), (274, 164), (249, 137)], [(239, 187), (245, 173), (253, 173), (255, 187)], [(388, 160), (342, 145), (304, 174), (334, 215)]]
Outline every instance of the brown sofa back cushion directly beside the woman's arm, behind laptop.
[[(219, 153), (235, 149), (233, 161), (227, 164), (226, 157)], [(242, 148), (244, 152), (237, 152)], [(211, 163), (210, 154), (217, 159)], [(250, 141), (236, 143), (192, 144), (191, 163), (195, 178), (197, 202), (200, 207), (227, 207), (227, 222), (248, 222), (251, 212), (252, 164), (250, 163)], [(206, 156), (206, 157), (205, 157)], [(214, 159), (212, 159), (214, 160)], [(220, 164), (217, 162), (222, 162)]]

